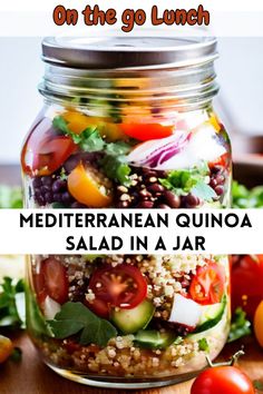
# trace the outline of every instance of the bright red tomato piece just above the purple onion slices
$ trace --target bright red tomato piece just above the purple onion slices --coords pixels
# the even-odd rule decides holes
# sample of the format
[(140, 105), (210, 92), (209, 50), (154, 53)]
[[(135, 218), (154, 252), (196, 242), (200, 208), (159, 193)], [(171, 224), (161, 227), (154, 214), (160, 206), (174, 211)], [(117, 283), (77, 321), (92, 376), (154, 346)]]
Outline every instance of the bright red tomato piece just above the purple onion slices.
[(172, 136), (174, 125), (159, 124), (121, 124), (120, 129), (129, 137), (139, 141), (148, 141), (149, 139), (160, 139)]

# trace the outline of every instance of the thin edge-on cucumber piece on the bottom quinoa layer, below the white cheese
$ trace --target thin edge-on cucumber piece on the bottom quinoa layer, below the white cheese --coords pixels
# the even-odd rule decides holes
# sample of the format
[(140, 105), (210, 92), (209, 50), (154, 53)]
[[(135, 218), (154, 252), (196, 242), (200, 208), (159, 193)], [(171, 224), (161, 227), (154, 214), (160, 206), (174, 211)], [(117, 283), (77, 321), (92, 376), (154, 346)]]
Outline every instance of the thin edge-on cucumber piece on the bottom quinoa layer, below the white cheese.
[(173, 332), (160, 333), (156, 329), (140, 329), (135, 335), (135, 345), (145, 348), (166, 348), (176, 339)]

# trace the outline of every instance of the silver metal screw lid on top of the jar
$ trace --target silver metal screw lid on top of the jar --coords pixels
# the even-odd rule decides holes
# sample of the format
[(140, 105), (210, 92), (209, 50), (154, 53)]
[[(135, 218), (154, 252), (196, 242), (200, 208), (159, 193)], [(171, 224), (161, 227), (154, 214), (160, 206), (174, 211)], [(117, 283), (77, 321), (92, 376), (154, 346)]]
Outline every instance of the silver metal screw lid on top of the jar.
[(81, 69), (154, 70), (212, 62), (217, 58), (215, 37), (182, 35), (46, 37), (42, 60)]

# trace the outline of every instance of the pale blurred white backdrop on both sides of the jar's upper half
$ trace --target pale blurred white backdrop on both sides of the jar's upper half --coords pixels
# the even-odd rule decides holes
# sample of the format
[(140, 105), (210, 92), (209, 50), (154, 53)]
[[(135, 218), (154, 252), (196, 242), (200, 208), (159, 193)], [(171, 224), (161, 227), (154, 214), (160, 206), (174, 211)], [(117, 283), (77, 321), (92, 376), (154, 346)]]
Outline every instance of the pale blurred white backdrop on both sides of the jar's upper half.
[[(43, 75), (41, 38), (0, 38), (0, 164), (18, 164), (22, 140), (42, 106), (37, 86)], [(220, 38), (216, 98), (234, 147), (263, 152), (263, 38)], [(252, 137), (252, 138), (249, 138)], [(253, 157), (253, 160), (256, 160)]]

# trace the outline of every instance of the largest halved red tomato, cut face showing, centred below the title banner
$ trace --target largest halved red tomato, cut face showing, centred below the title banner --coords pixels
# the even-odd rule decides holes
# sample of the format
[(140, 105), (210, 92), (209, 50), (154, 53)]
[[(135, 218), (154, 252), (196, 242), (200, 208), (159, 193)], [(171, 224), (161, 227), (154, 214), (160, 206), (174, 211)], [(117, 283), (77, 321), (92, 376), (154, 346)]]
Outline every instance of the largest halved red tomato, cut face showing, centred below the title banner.
[(89, 288), (95, 294), (90, 308), (103, 317), (107, 317), (115, 306), (132, 309), (147, 295), (146, 279), (137, 267), (128, 264), (116, 267), (104, 265), (95, 269)]

